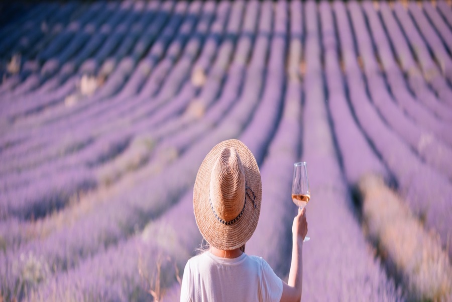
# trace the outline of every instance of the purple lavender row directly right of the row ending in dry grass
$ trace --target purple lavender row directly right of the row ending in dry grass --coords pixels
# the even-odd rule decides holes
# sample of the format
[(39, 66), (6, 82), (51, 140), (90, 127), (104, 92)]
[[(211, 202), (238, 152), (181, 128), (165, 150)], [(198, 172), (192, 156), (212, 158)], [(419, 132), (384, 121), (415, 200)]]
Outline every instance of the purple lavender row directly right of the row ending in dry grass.
[[(395, 175), (400, 186), (399, 191), (410, 203), (412, 211), (425, 219), (429, 229), (440, 234), (442, 245), (444, 248), (448, 247), (450, 254), (451, 249), (448, 244), (450, 227), (449, 220), (446, 218), (451, 211), (450, 203), (447, 201), (448, 196), (452, 194), (450, 182), (421, 162), (412, 149), (408, 148), (406, 143), (382, 122), (370, 103), (360, 67), (352, 59), (356, 55), (349, 43), (352, 35), (345, 6), (335, 2), (334, 13), (339, 28), (341, 51), (346, 59), (350, 99), (360, 125)], [(435, 197), (432, 196), (433, 194)]]

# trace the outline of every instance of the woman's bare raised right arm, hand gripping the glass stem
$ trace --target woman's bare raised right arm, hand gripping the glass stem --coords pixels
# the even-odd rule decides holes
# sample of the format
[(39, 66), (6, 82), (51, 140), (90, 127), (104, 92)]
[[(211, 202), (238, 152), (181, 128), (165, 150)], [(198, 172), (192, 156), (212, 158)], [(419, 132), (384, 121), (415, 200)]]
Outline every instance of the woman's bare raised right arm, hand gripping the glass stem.
[(292, 262), (288, 283), (283, 282), (281, 302), (299, 302), (303, 281), (303, 239), (307, 234), (306, 209), (298, 210), (292, 225)]

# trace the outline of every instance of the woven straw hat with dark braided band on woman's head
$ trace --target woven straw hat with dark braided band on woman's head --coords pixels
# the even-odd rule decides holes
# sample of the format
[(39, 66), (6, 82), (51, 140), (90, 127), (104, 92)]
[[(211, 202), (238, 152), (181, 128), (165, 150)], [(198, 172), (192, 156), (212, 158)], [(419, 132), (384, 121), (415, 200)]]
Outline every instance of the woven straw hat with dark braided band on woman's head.
[(236, 139), (213, 147), (193, 191), (196, 224), (210, 246), (233, 250), (244, 245), (256, 230), (261, 199), (261, 174), (250, 149)]

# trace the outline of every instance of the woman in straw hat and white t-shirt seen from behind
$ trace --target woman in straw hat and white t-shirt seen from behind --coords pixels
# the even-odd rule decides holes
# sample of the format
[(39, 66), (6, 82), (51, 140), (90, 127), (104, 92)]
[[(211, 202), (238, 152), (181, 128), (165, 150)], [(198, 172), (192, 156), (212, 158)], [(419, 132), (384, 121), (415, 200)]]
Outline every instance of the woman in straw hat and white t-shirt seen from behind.
[(219, 143), (196, 175), (193, 209), (208, 251), (188, 260), (181, 301), (299, 301), (302, 283), (305, 209), (293, 220), (293, 249), (288, 283), (262, 258), (245, 254), (256, 229), (262, 184), (251, 151), (239, 140)]

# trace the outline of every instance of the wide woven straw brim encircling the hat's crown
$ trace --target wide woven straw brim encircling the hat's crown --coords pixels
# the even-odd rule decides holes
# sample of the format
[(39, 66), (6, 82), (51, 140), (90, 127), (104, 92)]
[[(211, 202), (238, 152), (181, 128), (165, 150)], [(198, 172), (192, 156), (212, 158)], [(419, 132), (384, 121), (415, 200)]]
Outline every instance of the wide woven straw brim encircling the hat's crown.
[[(253, 200), (247, 196), (243, 216), (232, 225), (222, 224), (214, 215), (209, 204), (210, 174), (218, 156), (224, 148), (234, 147), (244, 167), (246, 185)], [(249, 189), (248, 189), (249, 190)], [(210, 246), (220, 250), (233, 250), (243, 246), (256, 230), (261, 212), (262, 182), (256, 159), (250, 149), (239, 140), (222, 141), (207, 153), (199, 167), (193, 188), (193, 210), (204, 239)]]

